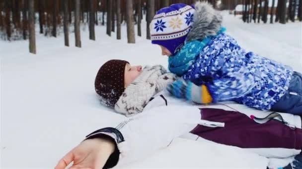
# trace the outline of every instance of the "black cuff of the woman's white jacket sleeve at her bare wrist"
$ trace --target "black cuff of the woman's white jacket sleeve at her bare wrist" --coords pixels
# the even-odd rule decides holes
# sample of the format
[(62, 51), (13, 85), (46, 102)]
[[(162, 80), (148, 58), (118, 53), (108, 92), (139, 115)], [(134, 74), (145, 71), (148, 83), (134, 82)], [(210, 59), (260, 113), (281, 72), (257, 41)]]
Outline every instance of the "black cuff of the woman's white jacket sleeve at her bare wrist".
[(106, 127), (106, 128), (98, 129), (88, 134), (85, 140), (92, 139), (92, 138), (101, 138), (101, 139), (109, 140), (114, 143), (114, 152), (109, 156), (103, 169), (110, 169), (116, 166), (120, 157), (120, 151), (117, 147), (117, 144), (124, 141), (124, 137), (122, 133), (116, 128)]

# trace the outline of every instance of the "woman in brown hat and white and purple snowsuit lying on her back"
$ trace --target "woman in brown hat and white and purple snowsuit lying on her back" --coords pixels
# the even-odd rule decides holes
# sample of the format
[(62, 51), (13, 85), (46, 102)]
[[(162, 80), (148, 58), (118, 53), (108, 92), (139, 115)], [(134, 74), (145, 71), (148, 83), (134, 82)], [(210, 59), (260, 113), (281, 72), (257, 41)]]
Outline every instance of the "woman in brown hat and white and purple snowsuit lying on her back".
[[(101, 103), (123, 115), (135, 116), (115, 128), (101, 128), (88, 134), (59, 161), (56, 169), (64, 169), (72, 162), (76, 169), (107, 169), (127, 164), (167, 147), (173, 138), (189, 132), (195, 134), (194, 140), (202, 137), (267, 158), (295, 156), (285, 169), (302, 167), (299, 116), (249, 109), (254, 115), (250, 119), (247, 113), (230, 111), (224, 106), (170, 106), (161, 90), (174, 80), (175, 76), (166, 73), (162, 66), (142, 70), (141, 66), (130, 66), (123, 60), (102, 65), (95, 79)], [(269, 116), (257, 118), (260, 114)]]

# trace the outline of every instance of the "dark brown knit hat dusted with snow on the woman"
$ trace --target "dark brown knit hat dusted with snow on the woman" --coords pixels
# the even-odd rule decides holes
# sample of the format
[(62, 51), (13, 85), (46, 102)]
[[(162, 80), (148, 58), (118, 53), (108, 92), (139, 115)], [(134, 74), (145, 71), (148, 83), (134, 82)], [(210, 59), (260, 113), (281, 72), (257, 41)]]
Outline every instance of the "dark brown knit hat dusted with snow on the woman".
[(101, 103), (114, 108), (115, 103), (123, 94), (125, 60), (109, 60), (101, 66), (94, 81), (96, 93), (100, 96)]

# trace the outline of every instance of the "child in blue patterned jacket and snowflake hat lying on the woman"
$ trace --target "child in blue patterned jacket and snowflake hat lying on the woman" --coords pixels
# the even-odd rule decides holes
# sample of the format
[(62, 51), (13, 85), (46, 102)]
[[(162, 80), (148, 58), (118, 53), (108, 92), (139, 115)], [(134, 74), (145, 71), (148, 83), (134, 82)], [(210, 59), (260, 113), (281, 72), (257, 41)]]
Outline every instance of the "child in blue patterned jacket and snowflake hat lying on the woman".
[(150, 28), (151, 42), (169, 56), (170, 72), (185, 80), (168, 87), (176, 97), (302, 115), (302, 74), (246, 52), (224, 33), (221, 14), (207, 2), (162, 8)]

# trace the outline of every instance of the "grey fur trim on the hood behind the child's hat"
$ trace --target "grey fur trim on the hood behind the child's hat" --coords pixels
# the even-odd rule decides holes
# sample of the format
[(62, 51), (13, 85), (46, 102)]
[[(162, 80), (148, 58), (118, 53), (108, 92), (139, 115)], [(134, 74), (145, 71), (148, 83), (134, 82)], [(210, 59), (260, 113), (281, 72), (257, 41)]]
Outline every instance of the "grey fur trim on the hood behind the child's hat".
[(194, 23), (186, 38), (187, 42), (215, 36), (222, 27), (223, 17), (210, 3), (196, 2), (195, 10)]

